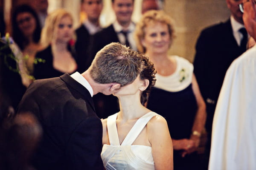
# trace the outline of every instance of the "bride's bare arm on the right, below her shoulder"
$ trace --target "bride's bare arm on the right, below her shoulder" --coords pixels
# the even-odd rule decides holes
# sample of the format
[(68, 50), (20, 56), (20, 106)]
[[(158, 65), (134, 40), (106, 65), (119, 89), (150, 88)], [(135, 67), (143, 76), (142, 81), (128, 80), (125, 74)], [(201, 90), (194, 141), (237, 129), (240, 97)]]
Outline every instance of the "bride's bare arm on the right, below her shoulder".
[(173, 170), (172, 139), (166, 120), (154, 116), (147, 125), (155, 170)]

